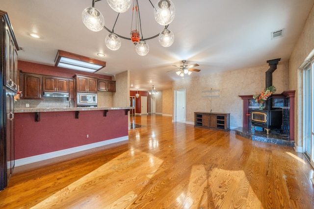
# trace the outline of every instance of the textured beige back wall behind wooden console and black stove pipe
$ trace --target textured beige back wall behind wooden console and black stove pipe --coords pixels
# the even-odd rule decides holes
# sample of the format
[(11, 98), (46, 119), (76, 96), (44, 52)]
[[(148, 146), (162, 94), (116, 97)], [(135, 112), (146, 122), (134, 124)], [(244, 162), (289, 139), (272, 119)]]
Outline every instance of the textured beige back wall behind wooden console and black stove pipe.
[[(279, 57), (274, 57), (277, 59)], [(266, 60), (265, 60), (266, 63)], [(238, 95), (260, 93), (265, 88), (268, 64), (173, 82), (173, 90), (186, 90), (186, 122), (194, 123), (194, 112), (230, 113), (230, 127), (242, 127), (242, 99)], [(277, 93), (288, 90), (288, 62), (280, 62), (273, 73)]]

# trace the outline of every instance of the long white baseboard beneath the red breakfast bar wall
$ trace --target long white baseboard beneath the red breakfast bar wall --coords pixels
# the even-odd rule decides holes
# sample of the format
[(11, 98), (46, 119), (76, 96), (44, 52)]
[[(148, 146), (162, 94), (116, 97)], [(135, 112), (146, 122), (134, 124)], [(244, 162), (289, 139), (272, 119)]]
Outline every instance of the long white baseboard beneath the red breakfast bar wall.
[(85, 145), (82, 145), (82, 146), (77, 146), (77, 147), (72, 147), (72, 148), (69, 148), (69, 149), (58, 150), (58, 151), (49, 152), (49, 153), (45, 153), (45, 154), (41, 154), (41, 155), (30, 156), (30, 157), (27, 157), (27, 158), (21, 158), (21, 159), (15, 160), (15, 166), (26, 165), (26, 164), (29, 164), (29, 163), (36, 163), (36, 162), (39, 162), (39, 161), (44, 161), (44, 160), (60, 157), (60, 156), (63, 156), (63, 155), (69, 155), (69, 154), (73, 154), (73, 153), (76, 153), (76, 152), (81, 152), (81, 151), (84, 151), (84, 150), (93, 149), (93, 148), (96, 148), (96, 147), (105, 146), (105, 145), (108, 145), (108, 144), (113, 144), (113, 143), (120, 142), (120, 141), (125, 141), (125, 140), (129, 140), (129, 136), (119, 137), (119, 138), (116, 138), (116, 139), (109, 139), (109, 140), (105, 140), (105, 141), (99, 141), (99, 142), (91, 143), (91, 144), (85, 144)]

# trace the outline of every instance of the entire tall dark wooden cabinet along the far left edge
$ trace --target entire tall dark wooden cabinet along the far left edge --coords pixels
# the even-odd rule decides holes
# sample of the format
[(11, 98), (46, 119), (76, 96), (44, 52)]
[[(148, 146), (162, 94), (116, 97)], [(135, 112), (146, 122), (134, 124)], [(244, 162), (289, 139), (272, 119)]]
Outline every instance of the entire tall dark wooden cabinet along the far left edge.
[(0, 190), (9, 181), (15, 165), (14, 95), (19, 91), (19, 48), (6, 12), (0, 10)]

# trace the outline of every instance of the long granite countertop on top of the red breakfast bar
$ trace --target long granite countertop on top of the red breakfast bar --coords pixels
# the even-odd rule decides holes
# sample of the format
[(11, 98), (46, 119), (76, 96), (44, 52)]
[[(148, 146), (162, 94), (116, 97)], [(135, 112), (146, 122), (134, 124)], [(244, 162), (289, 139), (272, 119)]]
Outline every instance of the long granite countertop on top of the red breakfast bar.
[(14, 113), (35, 112), (66, 112), (66, 111), (93, 111), (93, 110), (128, 110), (134, 107), (52, 107), (52, 108), (25, 108), (14, 109)]

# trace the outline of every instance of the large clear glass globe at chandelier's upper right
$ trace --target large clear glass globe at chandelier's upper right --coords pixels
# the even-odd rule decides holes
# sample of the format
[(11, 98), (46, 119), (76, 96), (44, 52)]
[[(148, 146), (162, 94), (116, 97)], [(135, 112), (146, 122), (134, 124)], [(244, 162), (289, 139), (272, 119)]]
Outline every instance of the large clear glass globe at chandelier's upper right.
[(159, 0), (154, 8), (154, 17), (161, 25), (170, 24), (175, 18), (175, 5), (171, 0)]

